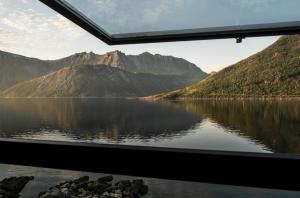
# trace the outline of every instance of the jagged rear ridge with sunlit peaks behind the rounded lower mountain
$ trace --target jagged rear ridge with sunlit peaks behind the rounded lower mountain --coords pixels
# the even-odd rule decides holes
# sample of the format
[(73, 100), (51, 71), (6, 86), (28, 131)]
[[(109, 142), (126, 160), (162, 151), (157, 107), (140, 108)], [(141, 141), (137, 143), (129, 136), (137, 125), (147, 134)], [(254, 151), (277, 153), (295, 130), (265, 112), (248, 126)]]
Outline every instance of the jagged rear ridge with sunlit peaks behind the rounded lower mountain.
[(82, 64), (104, 64), (132, 73), (149, 73), (155, 75), (181, 75), (190, 82), (197, 82), (207, 76), (195, 64), (182, 58), (162, 56), (144, 52), (139, 55), (126, 55), (121, 51), (112, 51), (104, 55), (90, 53), (77, 53), (69, 57), (50, 61), (52, 66), (75, 66)]

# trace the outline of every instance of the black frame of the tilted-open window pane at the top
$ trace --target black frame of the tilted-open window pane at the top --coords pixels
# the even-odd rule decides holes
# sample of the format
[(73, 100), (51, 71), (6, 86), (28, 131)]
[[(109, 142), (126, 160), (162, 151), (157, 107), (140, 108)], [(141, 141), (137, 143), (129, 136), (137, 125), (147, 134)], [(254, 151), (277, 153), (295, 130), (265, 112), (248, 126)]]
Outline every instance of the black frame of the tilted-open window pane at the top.
[(200, 28), (174, 31), (109, 34), (63, 0), (40, 0), (108, 45), (124, 45), (156, 42), (175, 42), (208, 39), (235, 38), (241, 42), (246, 37), (288, 35), (300, 33), (300, 21), (257, 25)]

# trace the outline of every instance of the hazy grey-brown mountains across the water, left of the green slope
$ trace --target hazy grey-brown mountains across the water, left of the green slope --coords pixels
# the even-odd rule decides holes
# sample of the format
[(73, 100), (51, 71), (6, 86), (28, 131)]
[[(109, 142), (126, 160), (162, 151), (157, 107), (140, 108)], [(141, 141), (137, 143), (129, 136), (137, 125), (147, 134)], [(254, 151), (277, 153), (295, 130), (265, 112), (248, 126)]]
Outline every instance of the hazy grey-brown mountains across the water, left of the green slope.
[(206, 76), (184, 59), (148, 52), (83, 52), (40, 60), (0, 51), (2, 97), (139, 97), (180, 89)]

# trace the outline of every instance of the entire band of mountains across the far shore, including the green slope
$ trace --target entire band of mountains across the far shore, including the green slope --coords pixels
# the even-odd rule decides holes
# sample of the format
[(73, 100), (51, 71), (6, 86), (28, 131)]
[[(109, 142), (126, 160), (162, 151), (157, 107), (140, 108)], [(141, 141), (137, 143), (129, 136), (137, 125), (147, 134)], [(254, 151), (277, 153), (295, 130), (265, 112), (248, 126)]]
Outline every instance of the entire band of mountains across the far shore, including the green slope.
[(184, 59), (148, 52), (83, 52), (40, 60), (0, 51), (0, 96), (298, 97), (300, 36), (282, 36), (261, 52), (209, 75)]

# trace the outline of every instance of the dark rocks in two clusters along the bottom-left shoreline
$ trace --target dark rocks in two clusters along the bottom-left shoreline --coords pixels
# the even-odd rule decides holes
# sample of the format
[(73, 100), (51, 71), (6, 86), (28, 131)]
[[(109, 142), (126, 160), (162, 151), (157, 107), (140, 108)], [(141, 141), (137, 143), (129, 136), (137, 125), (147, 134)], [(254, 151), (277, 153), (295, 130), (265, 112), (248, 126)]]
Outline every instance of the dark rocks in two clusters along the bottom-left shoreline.
[[(11, 177), (0, 182), (0, 198), (17, 198), (34, 177)], [(40, 192), (38, 198), (140, 198), (148, 193), (142, 179), (113, 182), (112, 176), (90, 180), (88, 176), (62, 182)]]

